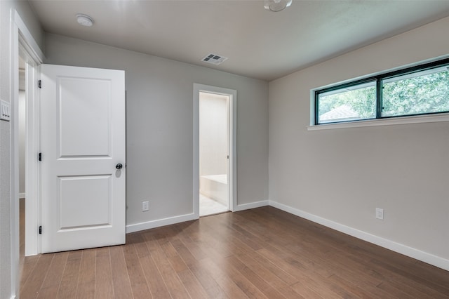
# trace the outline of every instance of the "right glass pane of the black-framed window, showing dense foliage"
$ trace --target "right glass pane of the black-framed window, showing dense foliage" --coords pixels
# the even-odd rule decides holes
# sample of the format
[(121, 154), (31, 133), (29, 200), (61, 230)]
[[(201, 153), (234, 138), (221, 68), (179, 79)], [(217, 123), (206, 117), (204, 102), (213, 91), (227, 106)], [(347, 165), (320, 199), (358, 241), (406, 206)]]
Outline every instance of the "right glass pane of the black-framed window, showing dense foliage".
[(449, 111), (449, 72), (438, 67), (383, 81), (382, 117)]

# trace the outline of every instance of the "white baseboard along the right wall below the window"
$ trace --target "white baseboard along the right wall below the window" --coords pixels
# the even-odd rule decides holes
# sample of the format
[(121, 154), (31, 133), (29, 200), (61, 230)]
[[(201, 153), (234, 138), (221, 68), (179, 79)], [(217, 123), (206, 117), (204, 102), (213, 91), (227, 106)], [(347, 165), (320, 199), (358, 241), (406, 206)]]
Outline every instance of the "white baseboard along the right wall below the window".
[(301, 211), (297, 208), (292, 208), (290, 206), (286, 206), (285, 204), (280, 204), (279, 202), (276, 201), (269, 201), (269, 205), (274, 206), (274, 208), (279, 208), (280, 210), (286, 211), (293, 215), (297, 215), (301, 218), (319, 223), (326, 227), (330, 227), (333, 230), (343, 232), (344, 234), (349, 234), (352, 237), (368, 241), (378, 246), (387, 248), (391, 251), (407, 255), (410, 258), (415, 258), (416, 260), (421, 260), (424, 263), (428, 263), (430, 265), (434, 265), (436, 267), (449, 271), (449, 260), (446, 260), (445, 258), (441, 258), (431, 253), (427, 253), (403, 244), (396, 243), (395, 241), (391, 241), (389, 239), (377, 237), (374, 234), (369, 234), (368, 232), (363, 232), (353, 227), (342, 225), (340, 223), (328, 220), (326, 218), (321, 218), (319, 216)]

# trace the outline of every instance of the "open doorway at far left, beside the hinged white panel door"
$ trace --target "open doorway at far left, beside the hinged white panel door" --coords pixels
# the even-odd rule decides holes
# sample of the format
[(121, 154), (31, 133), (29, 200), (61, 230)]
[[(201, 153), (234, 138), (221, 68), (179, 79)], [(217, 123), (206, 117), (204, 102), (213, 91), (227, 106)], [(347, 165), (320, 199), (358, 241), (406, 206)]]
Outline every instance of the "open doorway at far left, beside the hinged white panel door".
[[(20, 253), (39, 253), (39, 97), (38, 72), (40, 61), (33, 58), (22, 41), (18, 46), (18, 96), (14, 138), (17, 161), (17, 192), (20, 220)], [(22, 258), (22, 255), (20, 255)]]

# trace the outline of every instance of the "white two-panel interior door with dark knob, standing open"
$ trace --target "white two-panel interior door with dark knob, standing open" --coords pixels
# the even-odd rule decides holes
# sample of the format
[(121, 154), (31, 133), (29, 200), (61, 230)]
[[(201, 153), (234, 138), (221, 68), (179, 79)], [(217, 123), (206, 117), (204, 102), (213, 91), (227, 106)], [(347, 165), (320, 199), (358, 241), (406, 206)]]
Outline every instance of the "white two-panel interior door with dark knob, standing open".
[(125, 133), (124, 71), (41, 65), (42, 253), (125, 243)]

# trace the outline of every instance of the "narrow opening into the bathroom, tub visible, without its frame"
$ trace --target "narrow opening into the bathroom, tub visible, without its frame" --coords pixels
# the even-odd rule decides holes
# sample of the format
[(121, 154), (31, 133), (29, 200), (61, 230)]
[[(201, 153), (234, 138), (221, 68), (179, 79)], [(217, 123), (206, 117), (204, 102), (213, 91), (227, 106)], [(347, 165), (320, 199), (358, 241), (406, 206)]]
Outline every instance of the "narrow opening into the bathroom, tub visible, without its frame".
[(199, 215), (229, 211), (230, 95), (199, 93)]

